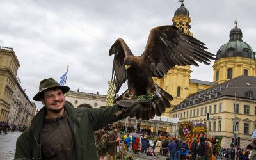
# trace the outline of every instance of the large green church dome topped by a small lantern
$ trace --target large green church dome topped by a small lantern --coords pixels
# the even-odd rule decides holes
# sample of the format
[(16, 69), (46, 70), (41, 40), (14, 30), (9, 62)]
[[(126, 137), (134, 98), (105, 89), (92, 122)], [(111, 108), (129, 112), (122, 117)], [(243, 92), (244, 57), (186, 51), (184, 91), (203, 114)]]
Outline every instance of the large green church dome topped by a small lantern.
[(222, 45), (216, 54), (216, 59), (227, 57), (244, 57), (255, 60), (255, 54), (252, 47), (243, 42), (243, 33), (240, 28), (237, 27), (231, 29), (230, 40), (226, 44)]

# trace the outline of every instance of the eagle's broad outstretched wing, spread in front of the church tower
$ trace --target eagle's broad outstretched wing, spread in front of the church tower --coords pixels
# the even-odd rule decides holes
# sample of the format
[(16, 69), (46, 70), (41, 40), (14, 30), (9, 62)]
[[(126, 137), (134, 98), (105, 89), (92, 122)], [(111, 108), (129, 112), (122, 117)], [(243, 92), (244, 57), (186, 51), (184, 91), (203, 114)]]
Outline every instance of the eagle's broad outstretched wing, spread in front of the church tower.
[(159, 26), (150, 31), (141, 57), (147, 61), (152, 76), (163, 78), (175, 65), (209, 64), (214, 54), (205, 51), (204, 43), (192, 36), (180, 33), (175, 26)]

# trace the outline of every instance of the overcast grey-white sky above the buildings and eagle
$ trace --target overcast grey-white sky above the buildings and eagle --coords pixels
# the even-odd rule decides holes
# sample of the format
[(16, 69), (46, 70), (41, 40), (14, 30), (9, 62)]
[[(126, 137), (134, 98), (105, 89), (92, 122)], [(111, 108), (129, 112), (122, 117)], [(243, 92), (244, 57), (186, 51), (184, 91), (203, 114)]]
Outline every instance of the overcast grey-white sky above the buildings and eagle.
[[(134, 55), (145, 49), (150, 29), (172, 24), (178, 0), (88, 1), (1, 0), (0, 46), (19, 59), (17, 77), (29, 99), (42, 79), (60, 81), (66, 72), (71, 90), (106, 95), (111, 79), (111, 45), (123, 38)], [(216, 54), (229, 40), (234, 20), (243, 41), (256, 50), (255, 0), (186, 0), (191, 32)], [(192, 79), (212, 81), (212, 65), (192, 67)], [(127, 86), (121, 90), (123, 91)]]

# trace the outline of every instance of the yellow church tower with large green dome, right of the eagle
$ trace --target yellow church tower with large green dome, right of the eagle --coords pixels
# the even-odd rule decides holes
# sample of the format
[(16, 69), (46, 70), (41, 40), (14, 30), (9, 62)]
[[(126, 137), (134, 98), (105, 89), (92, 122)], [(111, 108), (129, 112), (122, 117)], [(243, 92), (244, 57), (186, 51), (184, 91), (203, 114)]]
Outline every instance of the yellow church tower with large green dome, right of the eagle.
[(243, 42), (243, 33), (237, 27), (230, 31), (230, 40), (223, 44), (216, 54), (216, 61), (213, 65), (214, 83), (223, 83), (229, 79), (241, 76), (255, 75), (255, 52), (252, 47)]

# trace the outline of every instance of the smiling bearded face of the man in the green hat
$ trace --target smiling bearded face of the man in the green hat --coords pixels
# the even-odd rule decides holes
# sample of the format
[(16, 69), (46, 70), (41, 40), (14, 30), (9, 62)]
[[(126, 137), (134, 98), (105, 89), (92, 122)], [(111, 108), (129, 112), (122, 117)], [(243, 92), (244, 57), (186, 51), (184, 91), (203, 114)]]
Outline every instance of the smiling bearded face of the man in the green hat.
[(59, 113), (64, 108), (65, 97), (60, 88), (54, 90), (46, 90), (43, 93), (42, 104), (48, 111)]

